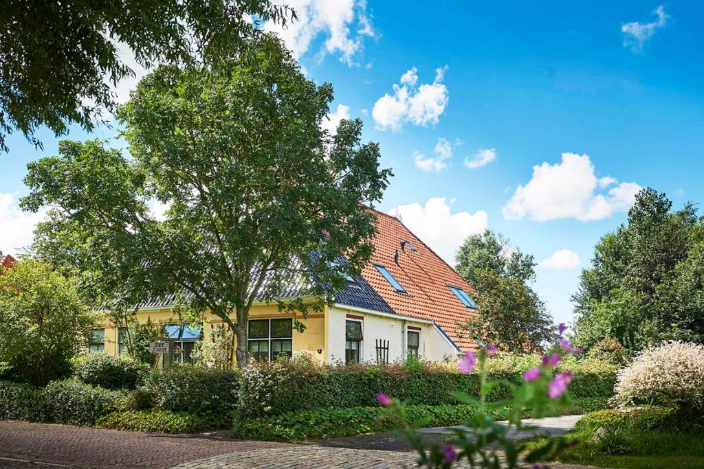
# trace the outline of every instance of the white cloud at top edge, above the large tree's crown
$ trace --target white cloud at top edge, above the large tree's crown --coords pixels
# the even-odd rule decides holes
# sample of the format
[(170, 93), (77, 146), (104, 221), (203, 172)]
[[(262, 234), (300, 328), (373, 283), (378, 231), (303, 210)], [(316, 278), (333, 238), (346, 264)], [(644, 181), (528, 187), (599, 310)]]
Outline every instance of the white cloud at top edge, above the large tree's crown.
[(362, 47), (361, 38), (375, 35), (364, 0), (283, 0), (276, 3), (293, 8), (298, 19), (289, 21), (286, 27), (268, 22), (263, 25), (263, 30), (279, 34), (296, 60), (310, 49), (314, 39), (323, 34), (326, 39), (320, 51), (322, 55), (339, 53), (341, 62), (358, 65), (354, 56)]

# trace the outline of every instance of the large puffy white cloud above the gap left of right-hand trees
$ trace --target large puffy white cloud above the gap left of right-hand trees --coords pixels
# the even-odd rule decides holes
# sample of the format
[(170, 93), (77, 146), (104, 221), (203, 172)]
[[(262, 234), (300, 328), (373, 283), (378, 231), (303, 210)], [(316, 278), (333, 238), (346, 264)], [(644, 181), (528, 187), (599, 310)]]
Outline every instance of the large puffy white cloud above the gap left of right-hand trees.
[(562, 153), (562, 161), (554, 165), (543, 162), (533, 167), (533, 177), (519, 185), (503, 207), (505, 219), (522, 219), (526, 214), (534, 220), (576, 218), (599, 220), (614, 212), (624, 212), (635, 200), (641, 186), (622, 182), (607, 193), (598, 193), (603, 184), (615, 184), (613, 178), (597, 179), (589, 155)]

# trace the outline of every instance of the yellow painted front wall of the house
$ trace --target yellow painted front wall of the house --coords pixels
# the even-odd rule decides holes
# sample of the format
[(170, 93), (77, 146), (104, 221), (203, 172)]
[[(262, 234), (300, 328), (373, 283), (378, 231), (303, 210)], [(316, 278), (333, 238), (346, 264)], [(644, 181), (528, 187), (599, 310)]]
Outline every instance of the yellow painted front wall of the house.
[[(325, 313), (308, 314), (307, 319), (299, 319), (306, 325), (306, 329), (299, 333), (294, 328), (293, 349), (296, 352), (306, 352), (317, 361), (324, 361), (327, 357), (326, 338), (325, 338), (325, 316), (327, 315), (327, 307)], [(275, 304), (257, 304), (253, 305), (249, 311), (249, 319), (274, 319), (291, 317), (290, 315), (279, 312)], [(162, 309), (142, 309), (137, 313), (137, 321), (145, 324), (148, 320), (153, 323), (176, 323), (178, 315), (171, 311), (170, 308)], [(232, 316), (234, 319), (234, 316)], [(203, 315), (203, 340), (210, 341), (210, 331), (213, 326), (222, 323), (222, 319), (212, 314)], [(106, 354), (118, 354), (118, 329), (113, 324), (104, 319), (96, 324), (96, 327), (105, 328), (105, 352)], [(322, 352), (318, 353), (318, 349)]]

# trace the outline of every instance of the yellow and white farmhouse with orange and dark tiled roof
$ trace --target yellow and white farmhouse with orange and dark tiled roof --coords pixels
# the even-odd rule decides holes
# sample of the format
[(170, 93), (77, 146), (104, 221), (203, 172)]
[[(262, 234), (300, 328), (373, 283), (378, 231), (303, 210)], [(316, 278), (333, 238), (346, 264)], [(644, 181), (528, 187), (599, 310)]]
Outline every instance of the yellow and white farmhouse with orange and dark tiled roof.
[[(477, 295), (460, 275), (408, 230), (400, 220), (379, 213), (375, 252), (362, 276), (348, 278), (334, 304), (302, 320), (299, 333), (293, 319), (275, 304), (253, 304), (249, 313), (248, 349), (256, 360), (305, 352), (325, 363), (346, 361), (390, 362), (408, 356), (427, 360), (455, 358), (476, 343), (463, 335), (462, 324), (477, 314)], [(303, 283), (298, 281), (296, 283)], [(291, 285), (287, 297), (301, 288)], [(172, 310), (175, 297), (139, 305), (138, 321), (166, 326), (172, 359), (191, 361), (199, 340), (210, 340), (220, 323), (203, 316), (202, 331), (178, 324)], [(125, 347), (120, 330), (109, 323), (94, 329), (94, 352), (120, 354)]]

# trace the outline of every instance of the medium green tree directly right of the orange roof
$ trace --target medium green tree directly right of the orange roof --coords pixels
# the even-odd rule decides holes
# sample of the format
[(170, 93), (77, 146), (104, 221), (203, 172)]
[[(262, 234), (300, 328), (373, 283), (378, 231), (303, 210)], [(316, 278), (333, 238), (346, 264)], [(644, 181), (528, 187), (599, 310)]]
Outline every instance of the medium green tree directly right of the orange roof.
[(470, 335), (521, 352), (538, 352), (553, 339), (552, 318), (528, 285), (535, 266), (532, 255), (510, 250), (500, 233), (487, 229), (467, 237), (457, 271), (479, 290), (479, 312), (465, 326)]

